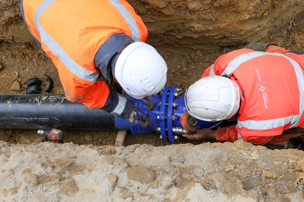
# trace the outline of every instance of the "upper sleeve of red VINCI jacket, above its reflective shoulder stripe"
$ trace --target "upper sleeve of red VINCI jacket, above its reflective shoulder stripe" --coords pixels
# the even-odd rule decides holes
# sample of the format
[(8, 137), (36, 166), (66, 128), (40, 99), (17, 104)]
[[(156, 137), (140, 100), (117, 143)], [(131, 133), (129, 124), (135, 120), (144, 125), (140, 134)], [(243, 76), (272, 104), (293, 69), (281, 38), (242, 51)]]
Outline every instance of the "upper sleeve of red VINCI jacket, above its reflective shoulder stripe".
[[(216, 61), (214, 62), (214, 64), (205, 70), (205, 72), (203, 73), (203, 76), (201, 78), (204, 78), (207, 76), (220, 76), (221, 73), (226, 69), (227, 65), (232, 60), (234, 60), (235, 58), (237, 58), (238, 56), (240, 56), (242, 54), (246, 54), (246, 53), (250, 53), (250, 52), (255, 52), (255, 51), (252, 49), (243, 48), (243, 49), (238, 49), (238, 50), (230, 52), (230, 53), (226, 53), (226, 54), (218, 57), (216, 59)], [(227, 76), (231, 76), (231, 75), (227, 75)]]

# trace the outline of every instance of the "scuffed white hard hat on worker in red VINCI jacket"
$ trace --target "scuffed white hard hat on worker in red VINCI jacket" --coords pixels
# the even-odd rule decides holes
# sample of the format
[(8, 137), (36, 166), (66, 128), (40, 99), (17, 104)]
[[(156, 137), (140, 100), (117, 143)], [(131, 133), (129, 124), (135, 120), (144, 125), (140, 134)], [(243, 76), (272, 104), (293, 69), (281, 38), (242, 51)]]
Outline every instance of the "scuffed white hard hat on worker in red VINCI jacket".
[(240, 108), (238, 84), (222, 76), (209, 76), (192, 84), (185, 92), (188, 113), (203, 121), (233, 117)]

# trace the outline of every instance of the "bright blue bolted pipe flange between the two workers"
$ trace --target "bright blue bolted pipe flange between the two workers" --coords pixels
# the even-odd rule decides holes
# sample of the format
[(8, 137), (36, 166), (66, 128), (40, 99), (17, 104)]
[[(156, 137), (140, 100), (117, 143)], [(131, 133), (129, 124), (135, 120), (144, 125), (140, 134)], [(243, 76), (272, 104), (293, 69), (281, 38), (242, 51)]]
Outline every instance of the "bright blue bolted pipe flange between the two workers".
[[(143, 128), (139, 124), (132, 125), (129, 124), (130, 130), (132, 134), (139, 133), (149, 133), (153, 131), (158, 131), (161, 133), (163, 141), (175, 141), (175, 134), (173, 132), (174, 127), (182, 128), (180, 123), (180, 117), (183, 113), (186, 112), (186, 107), (184, 103), (183, 96), (175, 96), (176, 87), (166, 86), (161, 95), (150, 95), (150, 97), (156, 103), (154, 109), (148, 110), (148, 108), (144, 105), (147, 100), (139, 100), (127, 96), (129, 99), (132, 99), (134, 107), (140, 109), (143, 113), (149, 116), (150, 123), (147, 127)], [(173, 103), (176, 103), (176, 106), (173, 107)], [(172, 117), (175, 116), (175, 120), (172, 120)], [(119, 118), (115, 119), (116, 126), (118, 129), (127, 129), (127, 120), (121, 120)], [(212, 128), (218, 125), (220, 122), (208, 122), (198, 120), (197, 125), (200, 128)]]

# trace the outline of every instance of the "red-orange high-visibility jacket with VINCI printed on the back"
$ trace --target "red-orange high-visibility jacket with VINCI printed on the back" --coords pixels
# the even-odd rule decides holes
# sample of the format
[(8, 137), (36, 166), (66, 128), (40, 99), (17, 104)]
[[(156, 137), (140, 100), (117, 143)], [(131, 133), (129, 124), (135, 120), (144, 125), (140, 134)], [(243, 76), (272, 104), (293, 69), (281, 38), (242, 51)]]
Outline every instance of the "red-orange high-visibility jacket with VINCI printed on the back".
[[(220, 56), (203, 74), (227, 75), (243, 99), (237, 124), (219, 128), (217, 140), (270, 141), (283, 131), (304, 127), (304, 55), (239, 49)], [(202, 77), (202, 78), (203, 78)]]

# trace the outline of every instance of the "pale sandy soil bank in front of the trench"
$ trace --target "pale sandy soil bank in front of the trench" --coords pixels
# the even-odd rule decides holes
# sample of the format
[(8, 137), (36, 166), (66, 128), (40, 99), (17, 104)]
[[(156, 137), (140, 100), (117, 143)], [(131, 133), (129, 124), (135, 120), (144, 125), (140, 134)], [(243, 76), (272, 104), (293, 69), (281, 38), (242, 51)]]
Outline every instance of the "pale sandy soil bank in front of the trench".
[[(265, 155), (267, 154), (267, 155)], [(0, 142), (0, 201), (303, 201), (300, 150)]]

